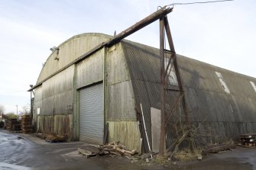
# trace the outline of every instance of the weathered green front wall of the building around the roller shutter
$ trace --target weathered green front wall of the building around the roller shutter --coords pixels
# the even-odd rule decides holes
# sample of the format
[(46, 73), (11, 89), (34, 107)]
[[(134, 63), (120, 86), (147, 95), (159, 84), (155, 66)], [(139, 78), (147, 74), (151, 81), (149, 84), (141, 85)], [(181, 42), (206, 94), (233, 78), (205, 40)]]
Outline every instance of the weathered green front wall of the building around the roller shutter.
[[(56, 51), (50, 55), (37, 83), (46, 81), (35, 88), (34, 123), (40, 132), (66, 134), (70, 140), (79, 140), (79, 90), (102, 82), (105, 75), (104, 117), (110, 125), (109, 140), (119, 140), (129, 149), (141, 151), (134, 92), (122, 43), (102, 48), (59, 72), (109, 38), (104, 34), (81, 34), (60, 44), (58, 55)], [(133, 140), (128, 141), (128, 136)]]

